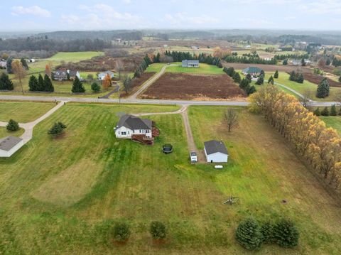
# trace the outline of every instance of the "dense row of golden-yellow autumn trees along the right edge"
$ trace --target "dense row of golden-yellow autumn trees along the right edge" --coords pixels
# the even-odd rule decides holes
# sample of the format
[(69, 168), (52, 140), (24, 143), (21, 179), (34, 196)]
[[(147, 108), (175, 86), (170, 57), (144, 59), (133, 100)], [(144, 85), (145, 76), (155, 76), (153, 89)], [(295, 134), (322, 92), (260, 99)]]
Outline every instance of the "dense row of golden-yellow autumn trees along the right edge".
[(332, 188), (341, 183), (341, 139), (337, 131), (305, 109), (298, 100), (266, 85), (251, 95), (252, 111), (264, 114), (272, 126)]

